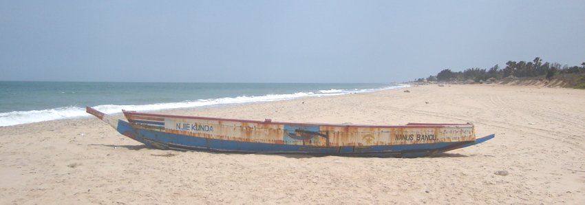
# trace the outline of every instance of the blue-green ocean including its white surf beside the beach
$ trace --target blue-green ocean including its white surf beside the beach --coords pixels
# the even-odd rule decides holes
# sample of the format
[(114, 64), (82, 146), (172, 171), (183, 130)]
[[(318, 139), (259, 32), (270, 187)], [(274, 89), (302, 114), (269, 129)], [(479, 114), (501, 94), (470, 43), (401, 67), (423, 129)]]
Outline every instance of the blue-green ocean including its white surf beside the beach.
[(107, 114), (293, 98), (334, 96), (407, 87), (393, 83), (74, 83), (0, 81), (0, 126)]

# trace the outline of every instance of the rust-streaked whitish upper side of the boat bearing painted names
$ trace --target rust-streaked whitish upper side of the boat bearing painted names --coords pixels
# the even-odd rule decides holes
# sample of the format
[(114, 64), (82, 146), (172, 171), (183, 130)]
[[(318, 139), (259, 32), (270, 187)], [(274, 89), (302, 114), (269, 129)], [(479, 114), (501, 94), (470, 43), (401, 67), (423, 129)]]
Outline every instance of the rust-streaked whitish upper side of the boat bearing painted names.
[[(206, 119), (160, 118), (152, 116), (127, 116), (131, 126), (139, 129), (161, 131), (151, 126), (132, 122), (140, 120), (158, 120), (178, 123), (190, 123), (191, 125), (206, 125), (213, 130), (192, 129), (178, 130), (175, 125), (166, 125), (162, 131), (184, 136), (201, 138), (237, 140), (243, 142), (264, 142), (273, 144), (304, 144), (322, 147), (357, 146), (367, 147), (373, 145), (398, 145), (421, 144), (435, 142), (460, 142), (475, 140), (473, 125), (405, 125), (400, 127), (374, 127), (374, 126), (339, 126), (320, 125), (319, 137), (305, 140), (284, 140), (286, 131), (283, 124), (274, 122), (238, 122)], [(326, 136), (326, 137), (325, 137)]]

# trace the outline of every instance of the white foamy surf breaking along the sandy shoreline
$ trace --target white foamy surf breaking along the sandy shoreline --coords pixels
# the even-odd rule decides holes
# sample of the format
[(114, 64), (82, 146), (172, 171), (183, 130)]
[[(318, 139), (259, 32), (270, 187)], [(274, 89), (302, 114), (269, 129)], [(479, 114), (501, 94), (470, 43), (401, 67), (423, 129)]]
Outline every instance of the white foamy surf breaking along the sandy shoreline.
[[(202, 107), (211, 105), (230, 105), (249, 102), (269, 102), (277, 100), (289, 100), (303, 97), (318, 97), (318, 96), (334, 96), (350, 93), (363, 93), (370, 91), (379, 91), (383, 89), (396, 89), (401, 87), (409, 87), (409, 85), (397, 85), (392, 87), (383, 87), (379, 89), (329, 89), (320, 90), (318, 93), (313, 92), (297, 92), (295, 94), (269, 94), (265, 96), (239, 96), (235, 98), (215, 98), (202, 99), (186, 102), (167, 102), (157, 103), (151, 105), (98, 105), (95, 109), (103, 111), (106, 114), (116, 114), (122, 109), (132, 111), (153, 111), (161, 109), (180, 109), (187, 107)], [(31, 111), (11, 111), (0, 113), (0, 127), (10, 125), (21, 125), (32, 122), (42, 122), (47, 120), (61, 120), (67, 118), (81, 118), (88, 117), (85, 113), (85, 107), (59, 107), (54, 109), (31, 110)]]

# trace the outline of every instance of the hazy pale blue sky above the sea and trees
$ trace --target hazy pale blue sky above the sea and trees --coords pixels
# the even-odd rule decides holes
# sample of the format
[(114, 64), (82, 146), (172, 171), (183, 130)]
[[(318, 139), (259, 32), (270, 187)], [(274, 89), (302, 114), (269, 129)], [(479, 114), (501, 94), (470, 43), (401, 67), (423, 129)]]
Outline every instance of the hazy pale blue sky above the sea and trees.
[(388, 83), (585, 62), (585, 1), (0, 0), (0, 80)]

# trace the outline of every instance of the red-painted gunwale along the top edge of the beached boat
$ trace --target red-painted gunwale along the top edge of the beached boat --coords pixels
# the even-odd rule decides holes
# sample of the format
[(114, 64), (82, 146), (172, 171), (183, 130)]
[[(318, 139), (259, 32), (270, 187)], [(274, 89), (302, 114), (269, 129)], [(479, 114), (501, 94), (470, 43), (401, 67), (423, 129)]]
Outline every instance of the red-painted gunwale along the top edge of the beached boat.
[[(409, 122), (407, 125), (342, 125), (342, 124), (329, 124), (329, 123), (303, 123), (303, 122), (278, 122), (266, 119), (260, 120), (241, 120), (233, 118), (213, 118), (213, 117), (202, 117), (202, 116), (180, 116), (180, 115), (169, 115), (169, 114), (153, 114), (143, 113), (138, 111), (122, 111), (124, 116), (151, 116), (159, 118), (182, 118), (182, 119), (193, 119), (193, 120), (218, 120), (218, 121), (231, 121), (231, 122), (246, 122), (246, 123), (258, 123), (258, 124), (271, 124), (271, 125), (297, 125), (297, 126), (328, 126), (328, 127), (366, 127), (366, 128), (473, 128), (474, 124), (435, 124), (435, 123), (412, 123)], [(130, 119), (129, 119), (130, 120)]]

